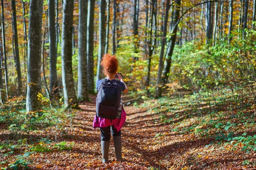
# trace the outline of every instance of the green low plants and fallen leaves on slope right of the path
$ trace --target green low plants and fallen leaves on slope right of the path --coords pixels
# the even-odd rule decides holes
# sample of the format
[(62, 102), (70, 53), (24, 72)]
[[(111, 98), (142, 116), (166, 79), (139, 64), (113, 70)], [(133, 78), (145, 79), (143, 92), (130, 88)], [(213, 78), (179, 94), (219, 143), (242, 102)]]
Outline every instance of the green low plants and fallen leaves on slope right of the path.
[[(169, 125), (170, 133), (211, 139), (209, 145), (230, 144), (234, 150), (240, 147), (246, 152), (254, 152), (256, 107), (251, 102), (253, 96), (246, 93), (243, 96), (239, 97), (228, 87), (221, 87), (213, 89), (211, 94), (206, 91), (200, 94), (170, 93), (159, 99), (144, 96), (144, 102), (137, 107), (149, 108), (155, 121)], [(165, 135), (157, 133), (155, 138)]]

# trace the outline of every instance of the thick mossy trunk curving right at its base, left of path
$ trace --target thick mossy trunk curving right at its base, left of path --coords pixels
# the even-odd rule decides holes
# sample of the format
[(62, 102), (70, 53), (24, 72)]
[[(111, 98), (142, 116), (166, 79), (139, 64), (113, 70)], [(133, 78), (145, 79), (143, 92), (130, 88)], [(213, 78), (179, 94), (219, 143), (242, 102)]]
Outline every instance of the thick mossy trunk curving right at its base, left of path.
[(61, 33), (61, 71), (65, 105), (76, 108), (76, 91), (72, 70), (73, 0), (64, 0)]

